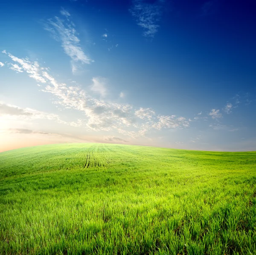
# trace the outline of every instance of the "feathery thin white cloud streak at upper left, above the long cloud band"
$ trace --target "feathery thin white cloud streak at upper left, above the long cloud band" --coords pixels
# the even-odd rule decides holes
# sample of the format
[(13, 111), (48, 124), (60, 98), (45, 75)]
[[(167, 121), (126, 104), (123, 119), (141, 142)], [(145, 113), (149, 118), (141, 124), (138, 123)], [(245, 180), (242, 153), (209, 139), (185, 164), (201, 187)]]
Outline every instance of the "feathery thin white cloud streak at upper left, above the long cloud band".
[(49, 19), (45, 24), (45, 30), (49, 31), (56, 41), (61, 42), (64, 52), (71, 58), (72, 72), (76, 73), (81, 68), (81, 64), (90, 64), (94, 61), (83, 51), (74, 24), (69, 20), (70, 13), (61, 9), (61, 14), (66, 20), (61, 20), (59, 17)]

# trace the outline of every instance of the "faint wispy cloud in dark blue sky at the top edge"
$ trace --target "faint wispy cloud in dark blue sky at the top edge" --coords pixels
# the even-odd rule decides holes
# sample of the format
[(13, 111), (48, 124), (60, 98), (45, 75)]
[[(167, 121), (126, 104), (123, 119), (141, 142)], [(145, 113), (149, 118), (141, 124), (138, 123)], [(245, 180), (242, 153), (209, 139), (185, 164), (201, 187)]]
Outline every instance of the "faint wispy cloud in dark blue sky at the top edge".
[(134, 0), (133, 6), (129, 10), (136, 18), (137, 25), (144, 30), (145, 37), (154, 37), (158, 28), (157, 23), (162, 16), (162, 8), (165, 0), (157, 0), (154, 3), (147, 3), (143, 0)]

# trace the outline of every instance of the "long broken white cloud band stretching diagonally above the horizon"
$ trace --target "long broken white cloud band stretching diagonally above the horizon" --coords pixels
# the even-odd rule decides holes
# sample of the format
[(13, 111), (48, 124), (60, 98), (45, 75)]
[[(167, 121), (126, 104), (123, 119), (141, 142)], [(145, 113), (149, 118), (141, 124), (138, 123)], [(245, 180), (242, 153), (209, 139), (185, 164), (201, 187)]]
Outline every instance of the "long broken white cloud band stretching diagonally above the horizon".
[[(94, 77), (90, 90), (85, 91), (79, 86), (68, 86), (65, 83), (59, 83), (49, 74), (47, 68), (39, 67), (37, 62), (29, 61), (27, 58), (17, 58), (7, 52), (4, 53), (12, 59), (14, 64), (20, 63), (22, 70), (28, 73), (30, 78), (36, 81), (44, 81), (42, 82), (44, 85), (41, 91), (51, 93), (54, 96), (55, 104), (82, 113), (82, 117), (77, 122), (63, 122), (63, 124), (84, 127), (85, 130), (116, 130), (118, 133), (134, 139), (145, 136), (150, 130), (189, 127), (189, 122), (184, 117), (156, 115), (154, 110), (150, 108), (137, 110), (130, 104), (118, 104), (91, 96), (91, 90), (99, 96), (106, 95), (104, 78)], [(55, 120), (60, 121), (57, 117), (55, 117)]]

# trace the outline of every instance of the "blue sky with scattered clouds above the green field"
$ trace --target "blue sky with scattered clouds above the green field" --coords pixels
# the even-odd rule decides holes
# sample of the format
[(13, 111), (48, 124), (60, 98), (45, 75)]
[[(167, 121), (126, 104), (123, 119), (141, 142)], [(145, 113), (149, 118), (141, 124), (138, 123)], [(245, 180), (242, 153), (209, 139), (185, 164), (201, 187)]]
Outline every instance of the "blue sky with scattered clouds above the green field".
[(0, 17), (0, 151), (256, 151), (254, 0), (9, 0)]

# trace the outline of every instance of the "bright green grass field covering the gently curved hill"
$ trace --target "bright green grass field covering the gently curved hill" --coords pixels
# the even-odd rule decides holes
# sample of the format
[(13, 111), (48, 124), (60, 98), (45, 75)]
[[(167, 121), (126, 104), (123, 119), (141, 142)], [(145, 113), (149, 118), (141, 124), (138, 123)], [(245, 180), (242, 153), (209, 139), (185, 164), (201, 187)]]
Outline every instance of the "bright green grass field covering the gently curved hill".
[(256, 152), (0, 153), (0, 254), (256, 254)]

